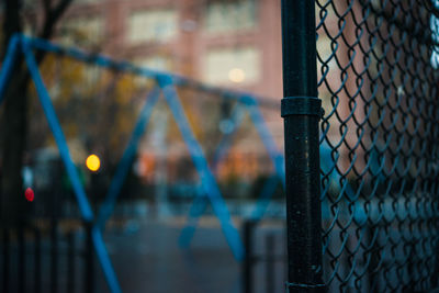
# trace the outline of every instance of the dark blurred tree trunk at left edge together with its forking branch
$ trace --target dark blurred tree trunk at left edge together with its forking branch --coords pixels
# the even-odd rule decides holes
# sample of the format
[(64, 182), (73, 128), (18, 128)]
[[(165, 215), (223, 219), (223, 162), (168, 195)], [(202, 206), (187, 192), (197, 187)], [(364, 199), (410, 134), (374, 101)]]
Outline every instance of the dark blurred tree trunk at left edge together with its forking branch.
[[(72, 0), (59, 0), (53, 5), (52, 0), (43, 1), (45, 21), (38, 34), (50, 38), (55, 24), (63, 16)], [(22, 32), (22, 0), (4, 1), (3, 55), (13, 34)], [(45, 53), (36, 52), (40, 64)], [(4, 56), (2, 56), (4, 58)], [(2, 155), (0, 161), (0, 221), (3, 224), (16, 224), (19, 218), (26, 218), (26, 202), (23, 193), (23, 157), (27, 134), (27, 86), (31, 80), (23, 56), (19, 56), (5, 91), (3, 119), (0, 125)]]

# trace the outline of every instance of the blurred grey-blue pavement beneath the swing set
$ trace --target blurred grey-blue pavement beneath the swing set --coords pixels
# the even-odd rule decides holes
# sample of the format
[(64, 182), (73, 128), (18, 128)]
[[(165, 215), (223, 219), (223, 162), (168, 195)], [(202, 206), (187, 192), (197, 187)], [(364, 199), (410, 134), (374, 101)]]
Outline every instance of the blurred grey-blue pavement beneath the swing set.
[[(105, 243), (123, 292), (238, 293), (240, 268), (216, 221), (204, 221), (189, 249), (178, 246), (182, 218), (110, 225)], [(97, 292), (109, 292), (97, 263)]]

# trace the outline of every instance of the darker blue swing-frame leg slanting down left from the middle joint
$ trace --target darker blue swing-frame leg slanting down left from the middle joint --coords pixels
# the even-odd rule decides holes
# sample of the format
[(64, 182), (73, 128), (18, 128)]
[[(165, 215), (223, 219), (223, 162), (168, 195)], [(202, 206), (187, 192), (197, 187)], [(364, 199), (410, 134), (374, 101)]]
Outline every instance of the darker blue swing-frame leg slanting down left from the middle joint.
[(148, 126), (149, 117), (159, 98), (160, 89), (158, 87), (155, 87), (146, 98), (145, 105), (142, 109), (139, 117), (137, 119), (136, 126), (134, 127), (128, 145), (125, 148), (121, 162), (117, 166), (114, 178), (111, 180), (105, 201), (99, 211), (97, 225), (102, 230), (105, 228), (105, 222), (114, 210), (117, 196), (121, 192), (123, 183), (125, 182), (126, 174), (128, 173), (130, 166), (137, 153), (138, 143), (142, 138), (142, 135), (145, 133), (146, 127)]

